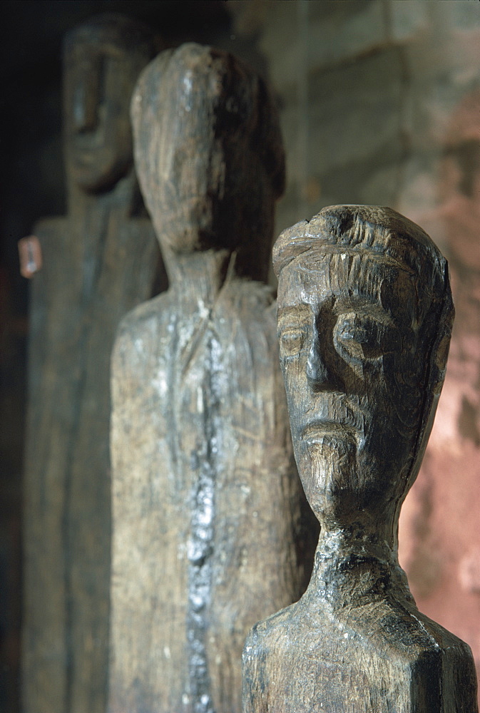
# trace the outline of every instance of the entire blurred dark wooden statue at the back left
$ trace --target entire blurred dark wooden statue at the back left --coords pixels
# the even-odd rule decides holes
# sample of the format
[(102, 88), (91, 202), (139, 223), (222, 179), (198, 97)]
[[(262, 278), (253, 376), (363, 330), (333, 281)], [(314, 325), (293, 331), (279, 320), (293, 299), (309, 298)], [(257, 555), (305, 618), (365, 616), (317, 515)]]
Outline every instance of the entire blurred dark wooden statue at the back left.
[[(118, 322), (163, 267), (137, 215), (128, 109), (153, 56), (118, 16), (65, 44), (68, 215), (35, 232), (24, 509), (23, 708), (104, 713), (108, 682), (110, 354)], [(164, 274), (164, 272), (163, 272)], [(166, 279), (166, 278), (165, 278)]]

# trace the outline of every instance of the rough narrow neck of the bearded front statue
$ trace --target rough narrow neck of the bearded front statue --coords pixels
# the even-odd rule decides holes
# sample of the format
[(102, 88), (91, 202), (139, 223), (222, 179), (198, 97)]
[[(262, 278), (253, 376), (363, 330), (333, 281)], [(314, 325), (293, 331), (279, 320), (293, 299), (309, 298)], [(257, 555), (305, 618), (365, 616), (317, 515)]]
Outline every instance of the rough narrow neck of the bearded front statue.
[[(380, 602), (388, 595), (413, 602), (397, 555), (396, 525), (373, 533), (357, 523), (322, 526), (305, 597), (330, 611)], [(414, 603), (414, 602), (413, 602)]]

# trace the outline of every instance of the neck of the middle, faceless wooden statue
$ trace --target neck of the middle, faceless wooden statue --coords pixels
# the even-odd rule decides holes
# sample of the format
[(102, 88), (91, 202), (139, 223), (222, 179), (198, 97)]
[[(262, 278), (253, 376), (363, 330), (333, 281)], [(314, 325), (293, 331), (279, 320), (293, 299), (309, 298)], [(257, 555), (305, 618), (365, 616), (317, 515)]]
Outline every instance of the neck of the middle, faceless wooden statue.
[(178, 302), (211, 307), (227, 279), (234, 275), (235, 255), (228, 250), (173, 253), (162, 248), (170, 289)]

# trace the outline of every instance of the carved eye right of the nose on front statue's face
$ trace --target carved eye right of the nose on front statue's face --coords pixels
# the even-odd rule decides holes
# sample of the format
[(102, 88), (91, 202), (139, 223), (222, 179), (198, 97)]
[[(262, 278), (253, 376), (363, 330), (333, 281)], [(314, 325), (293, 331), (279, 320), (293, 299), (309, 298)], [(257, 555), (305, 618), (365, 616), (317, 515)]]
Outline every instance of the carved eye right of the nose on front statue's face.
[(378, 359), (394, 350), (394, 327), (372, 317), (342, 317), (337, 322), (338, 344), (352, 359)]

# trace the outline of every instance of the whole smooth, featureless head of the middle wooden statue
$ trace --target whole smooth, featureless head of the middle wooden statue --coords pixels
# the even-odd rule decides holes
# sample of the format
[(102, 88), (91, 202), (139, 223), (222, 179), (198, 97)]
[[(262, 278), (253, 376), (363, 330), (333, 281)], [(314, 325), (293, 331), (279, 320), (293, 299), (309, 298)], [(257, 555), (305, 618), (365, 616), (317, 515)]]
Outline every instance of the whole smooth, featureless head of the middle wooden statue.
[(266, 262), (285, 158), (265, 82), (232, 55), (188, 43), (143, 71), (131, 113), (138, 178), (162, 246), (245, 252), (247, 239), (255, 263), (263, 240)]

